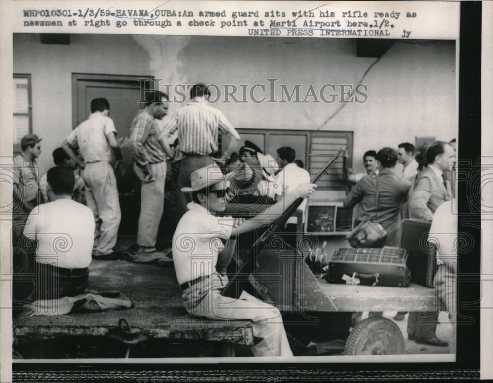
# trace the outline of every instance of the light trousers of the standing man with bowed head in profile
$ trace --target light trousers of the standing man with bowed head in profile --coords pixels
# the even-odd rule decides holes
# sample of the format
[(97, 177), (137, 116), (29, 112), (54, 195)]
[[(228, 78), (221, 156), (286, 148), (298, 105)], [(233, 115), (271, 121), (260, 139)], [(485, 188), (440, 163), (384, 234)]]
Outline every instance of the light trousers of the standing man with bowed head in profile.
[(157, 231), (163, 216), (166, 162), (152, 163), (154, 181), (142, 184), (141, 212), (137, 229), (137, 244), (155, 250)]

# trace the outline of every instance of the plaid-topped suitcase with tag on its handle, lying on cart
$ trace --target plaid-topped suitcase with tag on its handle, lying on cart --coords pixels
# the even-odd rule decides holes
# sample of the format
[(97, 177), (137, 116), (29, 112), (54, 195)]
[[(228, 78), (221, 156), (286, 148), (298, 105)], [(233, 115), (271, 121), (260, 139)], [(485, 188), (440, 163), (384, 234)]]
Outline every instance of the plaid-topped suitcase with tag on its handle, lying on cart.
[(361, 285), (406, 287), (411, 282), (406, 260), (407, 252), (397, 247), (337, 249), (329, 261), (327, 281), (346, 283), (346, 275)]

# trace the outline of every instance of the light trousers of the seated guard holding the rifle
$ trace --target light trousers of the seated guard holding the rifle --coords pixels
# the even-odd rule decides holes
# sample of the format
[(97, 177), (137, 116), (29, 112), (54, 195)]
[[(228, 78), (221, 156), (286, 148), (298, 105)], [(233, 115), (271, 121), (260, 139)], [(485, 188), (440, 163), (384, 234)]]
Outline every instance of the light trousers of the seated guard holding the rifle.
[(214, 273), (183, 291), (186, 310), (196, 316), (216, 320), (252, 321), (253, 336), (262, 338), (251, 350), (255, 356), (293, 356), (279, 310), (243, 291), (239, 299), (221, 295), (227, 276)]

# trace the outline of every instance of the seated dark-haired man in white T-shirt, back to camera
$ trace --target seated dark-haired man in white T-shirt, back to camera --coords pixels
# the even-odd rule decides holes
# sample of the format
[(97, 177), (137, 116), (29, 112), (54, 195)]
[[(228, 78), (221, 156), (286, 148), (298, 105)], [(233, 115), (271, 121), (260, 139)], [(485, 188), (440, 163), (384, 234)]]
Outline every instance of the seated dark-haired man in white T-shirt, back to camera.
[[(29, 215), (25, 238), (21, 238), (21, 247), (36, 249), (35, 300), (82, 294), (88, 287), (94, 241), (91, 209), (72, 200), (73, 172), (55, 166), (48, 170), (47, 180), (50, 202)], [(37, 241), (37, 246), (27, 246), (29, 239)]]

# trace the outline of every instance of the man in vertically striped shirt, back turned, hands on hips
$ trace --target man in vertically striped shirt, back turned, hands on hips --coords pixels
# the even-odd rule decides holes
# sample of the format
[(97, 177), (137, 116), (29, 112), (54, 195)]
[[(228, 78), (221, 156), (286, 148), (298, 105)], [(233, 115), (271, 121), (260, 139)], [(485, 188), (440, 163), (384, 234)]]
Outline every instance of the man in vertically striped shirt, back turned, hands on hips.
[[(178, 173), (178, 190), (190, 187), (190, 175), (193, 171), (211, 165), (213, 160), (225, 162), (240, 142), (240, 135), (217, 109), (208, 104), (210, 92), (204, 84), (195, 84), (190, 89), (190, 103), (178, 110), (166, 124), (168, 136), (178, 131), (178, 141), (183, 159)], [(211, 155), (218, 150), (218, 133), (230, 138), (229, 146), (222, 151), (219, 159)], [(167, 136), (167, 137), (168, 137)], [(181, 193), (178, 198), (178, 218), (187, 210), (192, 201), (189, 193)]]

